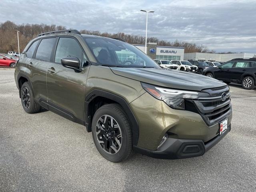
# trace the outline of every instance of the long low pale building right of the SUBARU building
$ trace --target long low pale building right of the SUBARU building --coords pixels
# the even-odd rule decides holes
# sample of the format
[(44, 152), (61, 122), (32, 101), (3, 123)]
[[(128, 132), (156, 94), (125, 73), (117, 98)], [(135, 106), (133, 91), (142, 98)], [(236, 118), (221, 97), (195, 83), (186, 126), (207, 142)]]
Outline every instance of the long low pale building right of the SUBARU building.
[(256, 58), (256, 54), (253, 54), (253, 53), (232, 53), (232, 54), (185, 53), (184, 54), (184, 60), (226, 62), (235, 58)]

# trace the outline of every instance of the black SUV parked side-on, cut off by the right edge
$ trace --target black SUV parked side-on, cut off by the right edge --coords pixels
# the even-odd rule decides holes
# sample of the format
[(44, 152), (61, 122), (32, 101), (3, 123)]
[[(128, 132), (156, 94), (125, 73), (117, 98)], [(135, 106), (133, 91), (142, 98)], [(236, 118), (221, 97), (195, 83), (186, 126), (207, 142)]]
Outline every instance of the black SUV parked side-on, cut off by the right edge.
[(226, 84), (235, 82), (242, 84), (244, 89), (253, 89), (256, 82), (256, 58), (232, 59), (216, 68), (205, 70), (204, 74)]

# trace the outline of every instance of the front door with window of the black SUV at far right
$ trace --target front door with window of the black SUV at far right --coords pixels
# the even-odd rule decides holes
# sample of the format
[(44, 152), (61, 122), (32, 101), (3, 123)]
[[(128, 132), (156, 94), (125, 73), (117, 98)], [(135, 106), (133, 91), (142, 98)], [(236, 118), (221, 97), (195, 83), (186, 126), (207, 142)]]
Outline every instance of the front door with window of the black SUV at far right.
[(232, 74), (231, 69), (235, 63), (235, 61), (230, 61), (222, 64), (218, 70), (214, 71), (214, 78), (226, 81), (230, 80), (232, 78), (230, 76)]

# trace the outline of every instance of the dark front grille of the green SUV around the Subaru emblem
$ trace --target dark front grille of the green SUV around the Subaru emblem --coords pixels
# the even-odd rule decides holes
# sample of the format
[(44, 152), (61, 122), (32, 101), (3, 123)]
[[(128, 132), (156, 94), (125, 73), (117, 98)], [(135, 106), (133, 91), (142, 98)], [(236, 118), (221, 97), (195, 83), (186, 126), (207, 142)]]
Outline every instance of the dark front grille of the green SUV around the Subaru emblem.
[[(222, 101), (221, 95), (224, 92), (226, 93), (227, 98)], [(230, 92), (227, 87), (204, 90), (203, 94), (204, 96), (208, 94), (208, 97), (200, 97), (198, 100), (192, 100), (192, 102), (187, 106), (189, 111), (200, 114), (206, 124), (209, 126), (213, 125), (231, 114), (232, 107), (230, 103)], [(194, 104), (194, 108), (196, 108), (196, 110), (192, 108), (192, 104)]]

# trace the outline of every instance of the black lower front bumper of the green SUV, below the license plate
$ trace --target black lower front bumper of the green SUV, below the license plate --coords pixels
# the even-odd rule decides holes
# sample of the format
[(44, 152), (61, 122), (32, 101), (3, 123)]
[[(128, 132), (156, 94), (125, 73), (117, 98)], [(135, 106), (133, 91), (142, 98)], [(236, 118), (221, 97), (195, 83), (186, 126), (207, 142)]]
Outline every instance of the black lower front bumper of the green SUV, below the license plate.
[(228, 132), (231, 130), (231, 124), (228, 126), (226, 132), (218, 135), (212, 140), (204, 143), (202, 140), (187, 140), (187, 139), (174, 139), (168, 138), (164, 144), (157, 150), (148, 150), (134, 146), (134, 151), (150, 156), (153, 158), (161, 159), (180, 159), (202, 156), (205, 152), (210, 150), (216, 145)]

